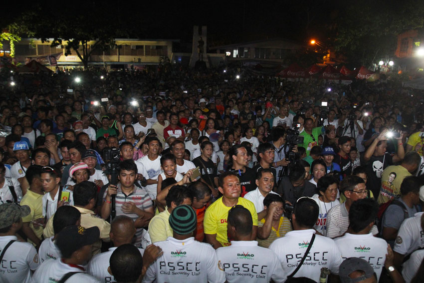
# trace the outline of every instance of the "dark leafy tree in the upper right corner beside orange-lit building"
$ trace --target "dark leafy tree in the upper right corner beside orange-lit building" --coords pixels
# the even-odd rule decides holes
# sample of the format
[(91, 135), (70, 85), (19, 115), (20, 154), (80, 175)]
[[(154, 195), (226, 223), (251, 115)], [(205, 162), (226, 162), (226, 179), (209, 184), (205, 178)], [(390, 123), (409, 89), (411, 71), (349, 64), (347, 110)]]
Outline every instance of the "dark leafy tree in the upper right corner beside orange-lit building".
[(345, 4), (337, 23), (335, 47), (355, 64), (371, 66), (394, 54), (397, 35), (424, 23), (419, 1), (351, 0)]

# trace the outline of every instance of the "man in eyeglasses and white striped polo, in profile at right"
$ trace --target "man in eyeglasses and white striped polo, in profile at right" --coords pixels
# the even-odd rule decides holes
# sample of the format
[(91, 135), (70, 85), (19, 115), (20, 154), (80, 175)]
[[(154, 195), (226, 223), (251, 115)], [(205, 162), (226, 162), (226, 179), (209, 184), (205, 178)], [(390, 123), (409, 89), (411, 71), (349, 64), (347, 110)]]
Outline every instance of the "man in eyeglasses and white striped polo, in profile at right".
[[(343, 236), (349, 227), (349, 209), (353, 202), (365, 199), (368, 195), (365, 181), (358, 176), (346, 176), (340, 186), (340, 192), (345, 195), (346, 202), (330, 209), (327, 214), (327, 237), (336, 238)], [(378, 234), (374, 225), (371, 229), (373, 235)]]

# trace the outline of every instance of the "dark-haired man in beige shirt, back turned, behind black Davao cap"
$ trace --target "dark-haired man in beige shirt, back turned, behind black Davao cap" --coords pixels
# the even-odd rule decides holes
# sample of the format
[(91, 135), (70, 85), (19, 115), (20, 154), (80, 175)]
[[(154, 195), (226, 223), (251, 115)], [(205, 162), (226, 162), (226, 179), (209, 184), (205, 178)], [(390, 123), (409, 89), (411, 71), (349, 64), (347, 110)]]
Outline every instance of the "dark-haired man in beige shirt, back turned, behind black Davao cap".
[[(81, 213), (81, 226), (86, 229), (94, 226), (98, 227), (100, 230), (100, 240), (109, 242), (110, 224), (106, 220), (97, 217), (93, 211), (97, 200), (96, 194), (97, 187), (92, 182), (83, 181), (75, 185), (73, 191), (74, 207)], [(47, 221), (46, 228), (44, 229), (43, 235), (45, 238), (54, 236), (53, 216)], [(93, 244), (93, 256), (100, 253), (100, 240)]]

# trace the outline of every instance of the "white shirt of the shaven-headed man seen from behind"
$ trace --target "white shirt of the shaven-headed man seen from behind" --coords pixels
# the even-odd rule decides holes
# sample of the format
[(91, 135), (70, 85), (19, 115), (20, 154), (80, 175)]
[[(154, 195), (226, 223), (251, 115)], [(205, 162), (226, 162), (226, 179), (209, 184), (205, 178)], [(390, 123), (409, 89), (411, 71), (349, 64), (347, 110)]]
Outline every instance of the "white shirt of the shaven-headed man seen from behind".
[[(115, 282), (115, 278), (109, 274), (107, 268), (110, 266), (110, 257), (116, 249), (117, 247), (109, 248), (107, 252), (95, 255), (88, 263), (87, 273), (104, 283)], [(138, 250), (140, 251), (141, 256), (143, 256), (144, 250)]]

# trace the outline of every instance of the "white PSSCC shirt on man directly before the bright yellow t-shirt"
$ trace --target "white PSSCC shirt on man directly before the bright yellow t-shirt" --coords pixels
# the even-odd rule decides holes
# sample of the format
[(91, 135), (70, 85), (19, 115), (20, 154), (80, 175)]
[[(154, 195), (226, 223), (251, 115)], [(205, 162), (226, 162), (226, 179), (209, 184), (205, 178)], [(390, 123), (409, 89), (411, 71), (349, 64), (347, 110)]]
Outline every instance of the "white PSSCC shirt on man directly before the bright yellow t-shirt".
[(216, 250), (228, 283), (283, 283), (287, 275), (277, 255), (258, 247), (257, 241), (231, 241), (231, 246)]

